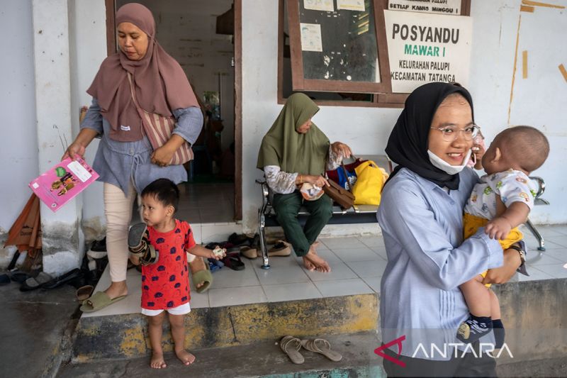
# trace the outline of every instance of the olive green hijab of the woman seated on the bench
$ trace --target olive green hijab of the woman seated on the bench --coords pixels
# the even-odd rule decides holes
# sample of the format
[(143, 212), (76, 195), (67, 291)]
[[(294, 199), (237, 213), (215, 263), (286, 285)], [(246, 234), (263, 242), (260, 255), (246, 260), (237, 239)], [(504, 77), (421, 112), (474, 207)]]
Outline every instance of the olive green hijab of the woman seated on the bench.
[(322, 174), (329, 150), (329, 138), (315, 124), (300, 134), (296, 130), (315, 116), (319, 107), (305, 94), (295, 93), (262, 139), (256, 167), (277, 165), (283, 172)]

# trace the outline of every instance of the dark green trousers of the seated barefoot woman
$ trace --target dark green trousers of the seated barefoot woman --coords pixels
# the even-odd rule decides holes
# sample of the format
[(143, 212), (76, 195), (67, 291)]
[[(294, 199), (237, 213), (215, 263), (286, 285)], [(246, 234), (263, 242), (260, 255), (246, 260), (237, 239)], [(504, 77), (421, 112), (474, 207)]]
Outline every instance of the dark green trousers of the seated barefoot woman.
[[(299, 191), (291, 194), (274, 194), (272, 201), (278, 222), (286, 233), (286, 239), (298, 257), (307, 255), (310, 246), (317, 240), (321, 230), (332, 216), (332, 202), (327, 194), (317, 201), (304, 201)], [(301, 228), (297, 215), (301, 205), (309, 211), (305, 227)]]

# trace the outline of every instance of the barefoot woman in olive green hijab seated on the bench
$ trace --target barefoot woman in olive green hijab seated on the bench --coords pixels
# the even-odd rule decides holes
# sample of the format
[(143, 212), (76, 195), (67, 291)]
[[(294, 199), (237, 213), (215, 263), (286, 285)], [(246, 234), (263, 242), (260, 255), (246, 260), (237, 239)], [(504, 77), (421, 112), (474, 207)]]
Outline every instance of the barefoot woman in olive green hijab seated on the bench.
[[(325, 169), (336, 169), (352, 152), (344, 143), (330, 144), (329, 138), (311, 122), (318, 111), (319, 107), (305, 94), (289, 96), (262, 139), (257, 167), (264, 171), (266, 182), (274, 191), (278, 222), (296, 255), (303, 257), (305, 268), (330, 272), (313, 243), (332, 216), (332, 201), (326, 194), (304, 201), (298, 189), (305, 183), (319, 188), (328, 185), (322, 177)], [(303, 228), (297, 219), (302, 204), (310, 213)]]

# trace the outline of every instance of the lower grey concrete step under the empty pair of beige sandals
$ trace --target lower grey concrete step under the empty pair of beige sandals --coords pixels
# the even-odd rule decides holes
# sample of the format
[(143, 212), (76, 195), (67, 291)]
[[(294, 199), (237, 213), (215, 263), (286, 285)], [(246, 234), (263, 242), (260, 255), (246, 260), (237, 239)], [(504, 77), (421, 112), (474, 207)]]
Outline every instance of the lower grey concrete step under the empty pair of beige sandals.
[(332, 362), (317, 353), (301, 349), (302, 365), (293, 364), (274, 340), (228, 348), (193, 350), (196, 362), (186, 367), (172, 352), (165, 355), (167, 367), (151, 369), (150, 355), (134, 359), (101, 360), (74, 363), (60, 369), (58, 378), (91, 377), (386, 377), (381, 358), (374, 354), (379, 345), (376, 332), (343, 335), (318, 335), (328, 340), (332, 349), (341, 353), (339, 362)]

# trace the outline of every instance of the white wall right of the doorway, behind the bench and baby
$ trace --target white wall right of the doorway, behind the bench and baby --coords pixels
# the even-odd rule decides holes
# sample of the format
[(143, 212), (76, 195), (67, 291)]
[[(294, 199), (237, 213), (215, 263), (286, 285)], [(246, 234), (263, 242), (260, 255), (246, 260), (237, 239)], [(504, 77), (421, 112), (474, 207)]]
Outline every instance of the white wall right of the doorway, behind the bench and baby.
[[(565, 4), (565, 1), (556, 1)], [(557, 70), (567, 64), (566, 11), (536, 7), (522, 13), (521, 50), (533, 50), (529, 79), (516, 76), (510, 125), (527, 123), (543, 128), (551, 140), (551, 156), (535, 172), (546, 179), (546, 199), (554, 206), (538, 206), (535, 223), (567, 223), (563, 197), (567, 177), (561, 159), (565, 157), (567, 83)], [(271, 126), (281, 105), (277, 104), (277, 1), (242, 1), (242, 212), (245, 231), (256, 228), (259, 188), (254, 179), (262, 136)], [(471, 83), (475, 116), (488, 140), (508, 126), (510, 88), (520, 0), (472, 1), (473, 45)], [(529, 21), (528, 21), (529, 19)], [(563, 31), (561, 31), (563, 30)], [(525, 46), (525, 47), (522, 47)], [(548, 48), (547, 46), (551, 46)], [(537, 55), (537, 57), (536, 57)], [(521, 61), (518, 63), (521, 70)], [(517, 72), (517, 75), (521, 75)], [(560, 108), (560, 106), (562, 106)], [(313, 121), (330, 140), (349, 144), (355, 153), (381, 154), (400, 109), (367, 109), (324, 106)], [(345, 227), (347, 228), (347, 227)], [(356, 228), (352, 228), (357, 232)]]

